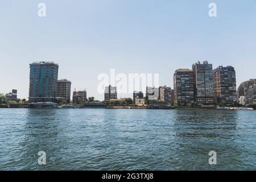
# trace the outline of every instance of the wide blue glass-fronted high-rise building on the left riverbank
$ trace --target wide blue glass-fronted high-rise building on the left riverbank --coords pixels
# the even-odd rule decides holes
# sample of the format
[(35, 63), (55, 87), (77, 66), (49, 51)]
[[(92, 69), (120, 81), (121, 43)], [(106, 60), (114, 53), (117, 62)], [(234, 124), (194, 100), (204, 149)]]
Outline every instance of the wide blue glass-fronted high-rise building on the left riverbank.
[(57, 94), (59, 65), (53, 62), (30, 64), (30, 102), (52, 102)]

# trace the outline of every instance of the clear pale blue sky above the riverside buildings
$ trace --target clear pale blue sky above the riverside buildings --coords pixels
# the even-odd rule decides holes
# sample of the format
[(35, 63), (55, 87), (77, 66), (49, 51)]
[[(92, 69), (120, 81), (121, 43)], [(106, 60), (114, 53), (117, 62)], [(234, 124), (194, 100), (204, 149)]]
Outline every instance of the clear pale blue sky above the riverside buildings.
[[(38, 17), (40, 2), (45, 18)], [(208, 16), (210, 2), (216, 18)], [(86, 88), (99, 100), (97, 76), (110, 68), (159, 73), (160, 85), (171, 87), (175, 69), (197, 60), (233, 65), (237, 86), (256, 78), (255, 0), (5, 0), (0, 33), (0, 93), (18, 89), (19, 98), (28, 97), (33, 61), (58, 63), (72, 90)]]

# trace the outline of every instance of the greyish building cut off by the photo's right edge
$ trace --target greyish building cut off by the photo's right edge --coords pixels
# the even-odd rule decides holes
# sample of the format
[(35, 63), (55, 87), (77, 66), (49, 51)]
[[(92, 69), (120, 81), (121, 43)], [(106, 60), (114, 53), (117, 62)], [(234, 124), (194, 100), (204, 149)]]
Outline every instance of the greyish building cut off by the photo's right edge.
[(241, 96), (245, 97), (245, 105), (256, 102), (256, 79), (250, 79), (242, 82), (238, 87), (237, 93), (238, 98), (241, 98)]

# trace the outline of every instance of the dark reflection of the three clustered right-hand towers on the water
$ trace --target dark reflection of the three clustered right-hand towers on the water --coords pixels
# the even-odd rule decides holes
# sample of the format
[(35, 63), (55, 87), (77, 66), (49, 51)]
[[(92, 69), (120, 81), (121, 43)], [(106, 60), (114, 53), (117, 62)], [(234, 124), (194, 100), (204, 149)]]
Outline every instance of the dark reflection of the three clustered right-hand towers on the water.
[(237, 119), (237, 111), (175, 110), (174, 141), (179, 153), (178, 166), (187, 164), (182, 169), (188, 170), (215, 169), (206, 162), (209, 151), (216, 151), (218, 169), (235, 167), (237, 159), (241, 159), (240, 148), (234, 140), (240, 137), (236, 129)]

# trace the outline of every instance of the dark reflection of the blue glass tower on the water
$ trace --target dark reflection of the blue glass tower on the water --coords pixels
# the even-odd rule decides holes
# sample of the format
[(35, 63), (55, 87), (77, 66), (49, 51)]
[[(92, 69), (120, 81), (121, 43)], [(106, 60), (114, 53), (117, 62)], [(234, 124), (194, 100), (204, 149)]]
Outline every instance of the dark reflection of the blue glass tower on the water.
[[(65, 113), (64, 113), (65, 115)], [(21, 158), (26, 163), (22, 169), (38, 169), (38, 152), (45, 151), (47, 156), (52, 151), (60, 150), (64, 143), (59, 142), (58, 134), (61, 121), (56, 110), (28, 109), (24, 125), (24, 139), (20, 142), (26, 148)], [(47, 160), (49, 162), (49, 159)], [(40, 169), (45, 166), (39, 166)]]

